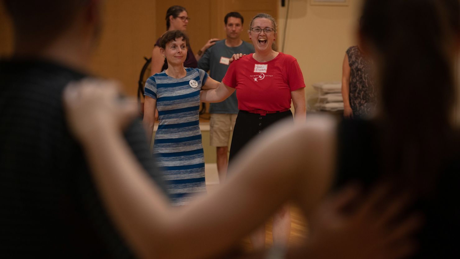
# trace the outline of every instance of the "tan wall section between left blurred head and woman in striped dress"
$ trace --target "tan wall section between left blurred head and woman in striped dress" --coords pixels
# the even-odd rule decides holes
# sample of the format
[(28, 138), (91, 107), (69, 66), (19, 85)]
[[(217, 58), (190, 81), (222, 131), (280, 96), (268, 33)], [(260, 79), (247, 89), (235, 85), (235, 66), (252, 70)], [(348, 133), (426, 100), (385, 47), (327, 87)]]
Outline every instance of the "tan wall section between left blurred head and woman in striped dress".
[(121, 81), (128, 95), (136, 95), (144, 57), (150, 58), (155, 44), (155, 2), (105, 1), (104, 27), (92, 70)]

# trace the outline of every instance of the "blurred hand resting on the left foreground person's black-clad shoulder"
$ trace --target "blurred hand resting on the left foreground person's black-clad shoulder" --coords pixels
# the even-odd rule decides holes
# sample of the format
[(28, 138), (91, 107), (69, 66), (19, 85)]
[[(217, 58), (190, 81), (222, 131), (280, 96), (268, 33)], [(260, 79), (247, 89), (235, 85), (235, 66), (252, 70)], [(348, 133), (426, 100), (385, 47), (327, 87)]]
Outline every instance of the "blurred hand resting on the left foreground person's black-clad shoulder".
[(83, 79), (64, 89), (67, 121), (75, 137), (88, 140), (95, 131), (120, 131), (138, 115), (135, 99), (121, 98), (115, 81)]

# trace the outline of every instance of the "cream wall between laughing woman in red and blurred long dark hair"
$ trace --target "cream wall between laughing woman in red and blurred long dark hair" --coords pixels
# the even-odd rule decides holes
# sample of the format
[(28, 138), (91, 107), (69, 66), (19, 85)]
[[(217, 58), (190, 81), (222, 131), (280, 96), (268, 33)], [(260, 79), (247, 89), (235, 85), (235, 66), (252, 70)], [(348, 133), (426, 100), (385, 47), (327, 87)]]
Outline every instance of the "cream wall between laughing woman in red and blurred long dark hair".
[[(281, 6), (281, 0), (279, 6)], [(290, 2), (287, 29), (284, 31), (287, 6), (278, 10), (279, 51), (286, 34), (284, 53), (297, 58), (305, 79), (307, 98), (316, 93), (311, 86), (321, 81), (340, 81), (345, 51), (355, 45), (355, 28), (361, 0), (349, 0), (349, 6), (311, 6), (310, 0)]]

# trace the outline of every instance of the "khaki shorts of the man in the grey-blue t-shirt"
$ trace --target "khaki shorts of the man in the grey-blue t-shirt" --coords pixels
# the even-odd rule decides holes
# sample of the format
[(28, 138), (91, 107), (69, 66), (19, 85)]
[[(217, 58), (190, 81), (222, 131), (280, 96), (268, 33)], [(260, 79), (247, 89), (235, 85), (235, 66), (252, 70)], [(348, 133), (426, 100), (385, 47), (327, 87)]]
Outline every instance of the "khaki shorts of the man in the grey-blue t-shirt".
[(209, 121), (210, 144), (213, 147), (228, 147), (230, 132), (235, 127), (237, 114), (213, 113)]

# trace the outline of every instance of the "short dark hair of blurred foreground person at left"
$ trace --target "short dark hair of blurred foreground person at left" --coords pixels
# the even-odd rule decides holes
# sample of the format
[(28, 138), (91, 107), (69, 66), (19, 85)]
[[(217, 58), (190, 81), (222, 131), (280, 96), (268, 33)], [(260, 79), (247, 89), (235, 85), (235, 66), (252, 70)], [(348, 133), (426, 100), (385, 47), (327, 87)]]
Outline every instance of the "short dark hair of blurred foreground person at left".
[[(69, 28), (87, 0), (4, 0), (15, 40), (43, 47)], [(40, 46), (38, 46), (40, 45)]]

